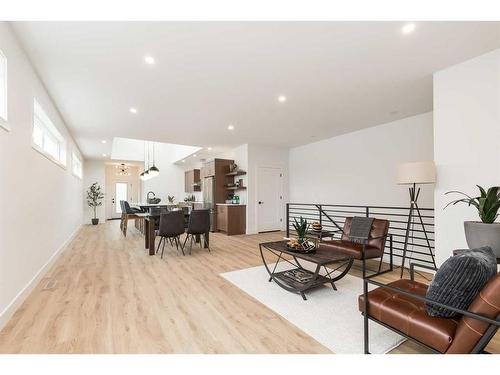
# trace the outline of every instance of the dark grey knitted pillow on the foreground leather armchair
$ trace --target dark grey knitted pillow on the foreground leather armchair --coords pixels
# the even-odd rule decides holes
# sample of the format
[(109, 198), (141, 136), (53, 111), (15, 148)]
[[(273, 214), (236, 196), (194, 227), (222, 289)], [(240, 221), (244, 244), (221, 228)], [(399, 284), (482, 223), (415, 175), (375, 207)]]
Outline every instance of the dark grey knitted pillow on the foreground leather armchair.
[[(467, 310), (474, 298), (492, 277), (488, 257), (482, 251), (467, 251), (447, 259), (434, 275), (427, 298)], [(431, 316), (451, 318), (456, 312), (426, 303)]]

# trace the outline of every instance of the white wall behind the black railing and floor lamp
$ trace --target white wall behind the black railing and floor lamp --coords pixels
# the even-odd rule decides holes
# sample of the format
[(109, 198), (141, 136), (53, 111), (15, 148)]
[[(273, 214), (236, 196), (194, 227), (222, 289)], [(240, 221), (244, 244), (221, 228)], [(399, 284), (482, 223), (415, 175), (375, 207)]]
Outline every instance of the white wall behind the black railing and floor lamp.
[[(374, 126), (290, 150), (293, 203), (408, 206), (396, 169), (433, 160), (432, 113)], [(433, 186), (423, 185), (421, 207), (433, 207)]]

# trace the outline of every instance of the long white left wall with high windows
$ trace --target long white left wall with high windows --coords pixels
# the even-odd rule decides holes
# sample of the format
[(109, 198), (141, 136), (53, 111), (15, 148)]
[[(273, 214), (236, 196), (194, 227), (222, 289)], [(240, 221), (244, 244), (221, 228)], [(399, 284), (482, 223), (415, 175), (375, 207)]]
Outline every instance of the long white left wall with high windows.
[[(19, 306), (82, 222), (82, 181), (71, 173), (75, 143), (20, 48), (0, 23), (8, 59), (8, 121), (0, 128), (0, 327)], [(33, 98), (68, 141), (63, 169), (31, 147)]]

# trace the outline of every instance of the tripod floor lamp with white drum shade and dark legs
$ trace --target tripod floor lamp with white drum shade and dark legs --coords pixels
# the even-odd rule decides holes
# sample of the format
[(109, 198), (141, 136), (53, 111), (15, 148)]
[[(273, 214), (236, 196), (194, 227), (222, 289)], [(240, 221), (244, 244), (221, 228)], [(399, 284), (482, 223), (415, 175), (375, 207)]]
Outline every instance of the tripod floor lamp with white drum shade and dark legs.
[[(408, 213), (408, 221), (406, 224), (405, 242), (403, 247), (403, 262), (401, 264), (401, 277), (403, 277), (403, 271), (405, 268), (405, 261), (407, 258), (408, 243), (410, 239), (410, 231), (413, 224), (413, 219), (419, 219), (419, 223), (422, 226), (422, 233), (424, 234), (424, 239), (429, 249), (429, 255), (432, 258), (432, 263), (434, 268), (436, 267), (436, 261), (434, 259), (434, 254), (432, 252), (431, 243), (429, 241), (429, 236), (425, 228), (424, 220), (422, 219), (422, 214), (420, 213), (420, 208), (418, 207), (418, 196), (420, 195), (420, 184), (433, 184), (436, 182), (436, 168), (434, 162), (432, 161), (422, 161), (414, 163), (403, 163), (398, 167), (398, 184), (411, 185), (408, 188), (410, 193), (410, 210)], [(415, 238), (412, 234), (412, 244)]]

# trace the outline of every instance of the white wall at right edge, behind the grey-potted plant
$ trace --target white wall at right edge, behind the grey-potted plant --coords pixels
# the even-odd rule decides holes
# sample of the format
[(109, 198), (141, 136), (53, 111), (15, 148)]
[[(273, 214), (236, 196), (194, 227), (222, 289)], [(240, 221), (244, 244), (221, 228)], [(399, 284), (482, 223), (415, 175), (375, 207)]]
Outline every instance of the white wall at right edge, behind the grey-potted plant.
[(467, 206), (442, 208), (444, 193), (477, 194), (476, 184), (500, 185), (500, 50), (434, 74), (434, 156), (437, 167), (436, 257), (467, 247), (465, 220), (479, 220)]

